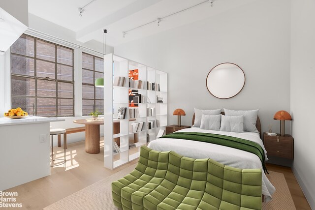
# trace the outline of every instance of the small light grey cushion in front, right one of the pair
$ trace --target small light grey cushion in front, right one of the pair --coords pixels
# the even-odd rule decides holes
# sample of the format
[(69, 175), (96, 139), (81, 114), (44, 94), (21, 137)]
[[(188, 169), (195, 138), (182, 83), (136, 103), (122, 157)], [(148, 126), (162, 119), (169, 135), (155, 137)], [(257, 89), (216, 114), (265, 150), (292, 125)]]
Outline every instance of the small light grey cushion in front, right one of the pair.
[(220, 131), (244, 132), (244, 116), (221, 116)]

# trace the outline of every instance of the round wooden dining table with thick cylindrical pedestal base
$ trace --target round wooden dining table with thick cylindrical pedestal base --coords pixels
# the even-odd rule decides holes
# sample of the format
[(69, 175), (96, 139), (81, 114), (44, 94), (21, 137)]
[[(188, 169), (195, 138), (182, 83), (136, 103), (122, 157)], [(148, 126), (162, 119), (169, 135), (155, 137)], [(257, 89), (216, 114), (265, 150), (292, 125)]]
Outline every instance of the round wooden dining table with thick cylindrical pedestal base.
[(74, 123), (85, 125), (85, 151), (90, 154), (99, 153), (99, 125), (104, 124), (104, 119), (73, 120)]

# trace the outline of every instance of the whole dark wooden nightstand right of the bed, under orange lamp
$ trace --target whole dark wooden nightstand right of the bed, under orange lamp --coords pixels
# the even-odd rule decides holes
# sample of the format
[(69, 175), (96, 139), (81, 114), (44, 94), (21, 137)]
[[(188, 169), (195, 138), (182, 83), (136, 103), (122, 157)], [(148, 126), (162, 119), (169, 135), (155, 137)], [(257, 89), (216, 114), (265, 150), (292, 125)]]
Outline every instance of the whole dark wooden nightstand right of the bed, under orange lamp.
[(294, 158), (294, 139), (291, 135), (285, 136), (269, 136), (264, 133), (264, 145), (267, 155), (284, 157), (288, 159)]

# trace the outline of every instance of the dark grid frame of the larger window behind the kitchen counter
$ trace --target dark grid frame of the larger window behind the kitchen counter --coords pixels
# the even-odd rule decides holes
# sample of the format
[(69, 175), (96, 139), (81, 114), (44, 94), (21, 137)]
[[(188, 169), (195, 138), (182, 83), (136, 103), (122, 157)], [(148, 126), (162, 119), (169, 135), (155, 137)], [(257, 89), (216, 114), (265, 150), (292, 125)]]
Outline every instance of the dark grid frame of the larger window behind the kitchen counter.
[[(10, 94), (10, 98), (11, 98), (11, 107), (12, 107), (12, 97), (21, 97), (21, 98), (33, 98), (34, 99), (34, 105), (33, 105), (33, 115), (38, 116), (38, 107), (37, 107), (37, 99), (38, 98), (53, 98), (56, 100), (56, 115), (52, 115), (52, 116), (45, 116), (45, 117), (74, 117), (75, 115), (75, 100), (74, 100), (74, 91), (75, 91), (75, 84), (74, 84), (74, 49), (70, 48), (70, 47), (66, 47), (63, 46), (61, 44), (57, 44), (51, 41), (47, 41), (41, 38), (37, 38), (35, 36), (32, 35), (28, 35), (23, 33), (22, 35), (25, 35), (26, 37), (31, 37), (34, 39), (34, 57), (32, 56), (27, 56), (27, 55), (22, 55), (19, 53), (12, 53), (12, 50), (10, 52), (10, 62), (12, 61), (12, 55), (14, 56), (19, 56), (19, 57), (23, 57), (23, 58), (27, 58), (27, 59), (32, 59), (34, 60), (34, 76), (30, 76), (30, 75), (22, 75), (22, 74), (16, 74), (16, 73), (12, 73), (12, 66), (10, 67), (10, 80), (12, 81), (12, 76), (13, 77), (18, 77), (18, 78), (30, 78), (30, 79), (34, 79), (34, 91), (35, 91), (35, 95), (34, 96), (22, 96), (22, 95), (14, 95), (12, 92), (12, 84), (11, 84), (11, 94)], [(21, 36), (22, 36), (21, 35)], [(48, 43), (48, 44), (52, 44), (55, 46), (55, 61), (51, 61), (51, 60), (44, 60), (44, 59), (40, 59), (37, 58), (37, 40), (40, 40), (42, 42)], [(13, 45), (12, 45), (13, 46)], [(62, 48), (66, 48), (72, 51), (72, 65), (68, 65), (68, 64), (64, 64), (64, 63), (60, 63), (58, 62), (58, 47), (62, 47)], [(37, 77), (37, 60), (40, 61), (44, 61), (44, 62), (49, 62), (49, 63), (54, 63), (55, 64), (55, 78), (47, 78), (47, 77)], [(62, 79), (58, 79), (58, 65), (63, 65), (63, 66), (67, 66), (67, 67), (71, 67), (72, 68), (72, 81), (67, 81), (67, 80), (62, 80)], [(37, 80), (43, 80), (43, 81), (54, 81), (56, 83), (56, 95), (54, 97), (49, 97), (49, 96), (38, 96), (38, 89), (37, 89)], [(68, 98), (68, 97), (59, 97), (58, 96), (58, 84), (59, 83), (67, 83), (67, 84), (72, 84), (72, 98)], [(58, 100), (59, 99), (72, 99), (72, 114), (71, 115), (59, 115), (59, 106), (58, 106)]]

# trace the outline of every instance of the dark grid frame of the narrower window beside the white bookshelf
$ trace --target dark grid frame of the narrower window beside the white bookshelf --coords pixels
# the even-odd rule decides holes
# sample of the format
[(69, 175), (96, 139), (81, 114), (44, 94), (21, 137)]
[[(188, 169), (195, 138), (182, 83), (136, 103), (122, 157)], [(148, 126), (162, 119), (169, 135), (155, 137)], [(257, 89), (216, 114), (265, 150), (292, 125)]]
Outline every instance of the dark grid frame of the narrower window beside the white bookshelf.
[[(102, 72), (95, 70), (95, 58), (101, 59), (101, 60), (103, 60), (103, 61), (104, 61), (104, 58), (101, 58), (101, 57), (99, 57), (99, 56), (95, 56), (95, 55), (90, 54), (90, 53), (87, 53), (87, 52), (82, 52), (82, 54), (81, 54), (81, 62), (82, 62), (82, 63), (83, 63), (83, 59), (82, 59), (82, 58), (83, 58), (83, 54), (93, 57), (93, 70), (88, 69), (88, 68), (84, 68), (83, 65), (82, 65), (82, 72), (83, 72), (83, 70), (93, 71), (93, 84), (91, 84), (91, 83), (84, 83), (84, 82), (83, 82), (83, 79), (82, 79), (81, 89), (82, 89), (82, 91), (83, 91), (83, 85), (93, 86), (93, 87), (94, 87), (94, 98), (93, 98), (93, 99), (92, 99), (92, 98), (84, 98), (84, 97), (83, 97), (83, 94), (82, 94), (82, 101), (83, 101), (83, 100), (94, 100), (94, 110), (93, 110), (93, 111), (95, 111), (95, 110), (96, 110), (96, 101), (103, 101), (103, 107), (104, 107), (104, 98), (103, 98), (103, 99), (96, 99), (96, 87), (95, 87), (95, 79), (96, 79), (96, 78), (95, 78), (95, 72), (96, 72), (96, 73), (101, 73), (101, 74), (103, 74), (103, 77), (104, 77), (104, 70), (103, 70)], [(83, 113), (83, 103), (82, 103), (81, 109), (82, 109), (82, 116), (89, 116), (89, 114), (84, 114), (84, 113)], [(104, 108), (103, 108), (103, 109), (104, 109)]]

